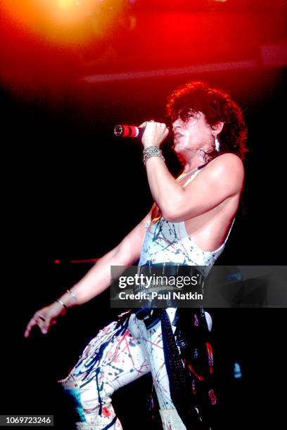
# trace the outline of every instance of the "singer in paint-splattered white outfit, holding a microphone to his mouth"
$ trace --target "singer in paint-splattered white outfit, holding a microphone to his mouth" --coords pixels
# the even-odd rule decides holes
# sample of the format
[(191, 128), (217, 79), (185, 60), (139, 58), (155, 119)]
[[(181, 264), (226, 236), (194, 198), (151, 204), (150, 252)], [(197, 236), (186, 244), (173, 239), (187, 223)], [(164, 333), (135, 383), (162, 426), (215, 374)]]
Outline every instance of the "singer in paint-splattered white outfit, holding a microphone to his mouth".
[[(223, 252), (243, 190), (246, 126), (231, 97), (203, 82), (189, 82), (168, 98), (174, 152), (183, 170), (174, 178), (160, 150), (168, 129), (147, 121), (141, 138), (154, 204), (115, 249), (27, 325), (49, 331), (60, 314), (109, 287), (110, 266), (139, 260), (139, 271), (203, 266), (206, 273)], [(190, 266), (190, 268), (189, 268)], [(174, 272), (175, 273), (175, 272)], [(84, 349), (60, 383), (75, 398), (77, 429), (122, 429), (111, 396), (151, 372), (163, 429), (210, 429), (212, 320), (203, 308), (127, 311)], [(115, 369), (117, 370), (115, 372)], [(127, 400), (128, 407), (128, 400)], [(136, 422), (134, 422), (136, 428)]]

